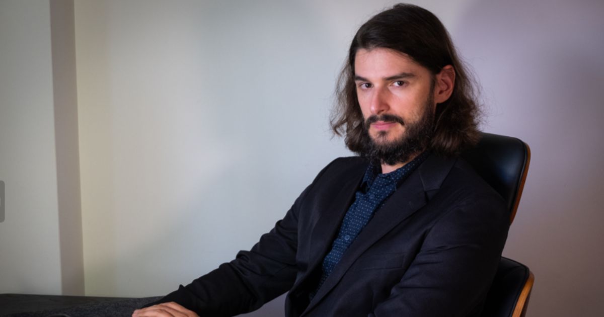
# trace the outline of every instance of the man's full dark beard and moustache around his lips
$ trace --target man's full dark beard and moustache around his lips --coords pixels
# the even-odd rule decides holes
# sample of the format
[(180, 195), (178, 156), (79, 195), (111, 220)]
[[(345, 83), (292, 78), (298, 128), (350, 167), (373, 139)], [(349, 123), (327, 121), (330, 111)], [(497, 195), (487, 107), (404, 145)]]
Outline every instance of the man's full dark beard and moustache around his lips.
[[(405, 127), (397, 139), (387, 141), (388, 131), (380, 131), (373, 138), (369, 135), (371, 123), (376, 121), (396, 122)], [(402, 118), (391, 115), (372, 115), (365, 120), (365, 157), (373, 164), (395, 165), (410, 161), (413, 156), (428, 149), (434, 135), (434, 102), (428, 98), (420, 120), (405, 123)]]

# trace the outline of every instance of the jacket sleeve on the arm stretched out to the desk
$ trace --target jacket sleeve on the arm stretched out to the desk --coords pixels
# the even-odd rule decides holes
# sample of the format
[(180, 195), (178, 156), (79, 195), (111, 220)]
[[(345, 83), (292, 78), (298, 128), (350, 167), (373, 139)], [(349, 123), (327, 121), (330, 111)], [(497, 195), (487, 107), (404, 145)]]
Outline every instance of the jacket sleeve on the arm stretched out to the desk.
[(147, 306), (174, 301), (201, 316), (234, 316), (259, 309), (291, 289), (297, 274), (300, 205), (330, 165), (323, 168), (284, 218), (263, 234), (250, 251), (240, 251), (233, 261)]

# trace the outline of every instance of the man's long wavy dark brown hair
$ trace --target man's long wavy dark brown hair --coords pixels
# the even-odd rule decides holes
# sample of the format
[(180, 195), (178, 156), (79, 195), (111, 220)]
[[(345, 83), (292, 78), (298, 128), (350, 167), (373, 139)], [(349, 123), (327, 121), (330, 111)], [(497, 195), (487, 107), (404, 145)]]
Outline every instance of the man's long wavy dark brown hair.
[(451, 97), (436, 107), (429, 150), (442, 156), (455, 156), (478, 141), (480, 109), (475, 83), (458, 58), (445, 26), (424, 8), (397, 4), (376, 14), (359, 28), (338, 80), (331, 126), (336, 135), (345, 136), (346, 146), (352, 152), (364, 155), (364, 144), (367, 144), (364, 138), (368, 138), (355, 88), (355, 57), (361, 48), (399, 51), (427, 68), (432, 75), (438, 74), (444, 66), (452, 65), (455, 86)]

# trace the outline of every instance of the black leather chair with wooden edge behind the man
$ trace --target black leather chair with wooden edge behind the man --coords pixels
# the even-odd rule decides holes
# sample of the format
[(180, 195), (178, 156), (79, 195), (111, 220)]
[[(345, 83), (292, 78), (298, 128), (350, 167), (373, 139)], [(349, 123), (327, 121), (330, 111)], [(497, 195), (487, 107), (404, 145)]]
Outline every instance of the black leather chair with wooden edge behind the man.
[[(506, 200), (511, 224), (527, 176), (530, 161), (527, 144), (509, 136), (481, 133), (477, 146), (462, 156)], [(527, 266), (501, 257), (481, 316), (525, 316), (534, 281)]]

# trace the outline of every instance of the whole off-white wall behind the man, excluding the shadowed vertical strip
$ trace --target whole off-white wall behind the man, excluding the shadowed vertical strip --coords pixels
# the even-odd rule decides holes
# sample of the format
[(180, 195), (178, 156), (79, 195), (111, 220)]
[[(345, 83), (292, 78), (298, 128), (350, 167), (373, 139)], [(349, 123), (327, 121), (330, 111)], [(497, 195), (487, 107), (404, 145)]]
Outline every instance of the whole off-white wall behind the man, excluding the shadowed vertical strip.
[[(19, 280), (20, 289), (52, 293), (60, 278), (55, 148), (47, 146), (54, 133), (48, 8), (19, 3), (16, 19), (5, 14), (16, 2), (0, 2), (0, 42), (21, 43), (0, 46), (0, 179), (7, 183), (0, 277), (12, 279), (0, 285), (42, 267), (47, 280)], [(169, 292), (271, 228), (323, 165), (347, 155), (327, 126), (335, 77), (356, 28), (390, 4), (77, 1), (86, 294)], [(504, 250), (535, 272), (529, 315), (599, 315), (604, 4), (418, 4), (442, 19), (474, 66), (484, 130), (532, 148)], [(36, 8), (26, 12), (28, 5)], [(7, 243), (21, 232), (28, 240)], [(5, 262), (5, 254), (19, 256)], [(39, 266), (40, 254), (50, 264)], [(257, 315), (282, 312), (274, 303)]]

